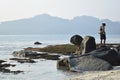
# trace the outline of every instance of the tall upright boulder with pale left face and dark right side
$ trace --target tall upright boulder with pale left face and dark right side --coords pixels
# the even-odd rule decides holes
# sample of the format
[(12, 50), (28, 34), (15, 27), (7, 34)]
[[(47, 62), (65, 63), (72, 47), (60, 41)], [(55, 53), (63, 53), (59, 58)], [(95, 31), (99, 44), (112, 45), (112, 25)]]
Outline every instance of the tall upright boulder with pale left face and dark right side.
[(82, 40), (81, 46), (80, 46), (80, 52), (82, 54), (89, 53), (96, 49), (96, 42), (95, 38), (92, 36), (85, 36), (85, 38)]

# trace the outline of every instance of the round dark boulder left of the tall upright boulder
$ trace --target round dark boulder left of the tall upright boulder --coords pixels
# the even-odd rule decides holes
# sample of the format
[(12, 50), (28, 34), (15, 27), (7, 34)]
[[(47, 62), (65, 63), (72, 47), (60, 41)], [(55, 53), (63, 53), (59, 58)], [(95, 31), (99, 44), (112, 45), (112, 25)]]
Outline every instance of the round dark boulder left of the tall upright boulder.
[(70, 39), (70, 42), (74, 45), (78, 45), (80, 46), (81, 45), (81, 42), (82, 42), (83, 38), (79, 35), (74, 35), (71, 37)]

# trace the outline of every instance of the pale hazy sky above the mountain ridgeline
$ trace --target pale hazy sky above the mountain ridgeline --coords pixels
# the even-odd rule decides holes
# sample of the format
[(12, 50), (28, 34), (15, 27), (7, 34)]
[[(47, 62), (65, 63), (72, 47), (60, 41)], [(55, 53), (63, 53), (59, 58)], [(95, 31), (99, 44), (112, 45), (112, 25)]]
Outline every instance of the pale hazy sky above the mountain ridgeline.
[(0, 22), (40, 14), (64, 19), (86, 15), (120, 21), (120, 0), (0, 0)]

